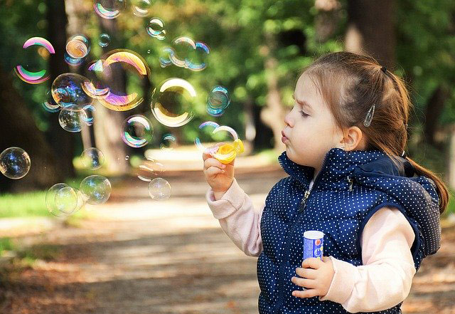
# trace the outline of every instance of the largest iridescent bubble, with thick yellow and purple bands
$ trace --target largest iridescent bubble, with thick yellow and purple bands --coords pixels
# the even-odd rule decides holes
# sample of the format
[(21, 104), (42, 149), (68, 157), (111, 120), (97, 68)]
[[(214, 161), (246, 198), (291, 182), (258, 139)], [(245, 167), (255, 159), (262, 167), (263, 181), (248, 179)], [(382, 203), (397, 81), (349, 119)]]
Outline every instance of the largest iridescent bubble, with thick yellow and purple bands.
[[(98, 89), (109, 88), (109, 93), (106, 97), (100, 99), (100, 103), (110, 110), (126, 111), (131, 110), (144, 101), (144, 95), (141, 95), (142, 90), (132, 88), (132, 90), (122, 91), (116, 89), (118, 86), (118, 76), (127, 76), (134, 74), (132, 80), (149, 79), (150, 69), (147, 66), (144, 58), (134, 51), (126, 49), (117, 49), (110, 51), (104, 57), (103, 71), (100, 81), (94, 85)], [(139, 74), (139, 76), (138, 76)], [(129, 93), (131, 92), (131, 93)]]

